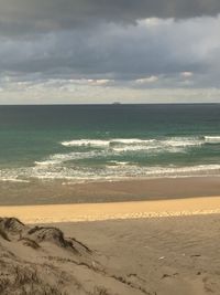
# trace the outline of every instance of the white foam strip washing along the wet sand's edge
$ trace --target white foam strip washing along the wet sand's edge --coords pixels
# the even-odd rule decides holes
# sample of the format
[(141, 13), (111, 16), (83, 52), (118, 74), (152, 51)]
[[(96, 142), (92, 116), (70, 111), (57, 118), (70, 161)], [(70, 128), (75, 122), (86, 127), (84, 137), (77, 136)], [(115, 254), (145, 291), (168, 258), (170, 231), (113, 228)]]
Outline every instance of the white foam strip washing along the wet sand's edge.
[[(113, 162), (112, 162), (113, 164)], [(74, 182), (96, 180), (119, 180), (130, 178), (152, 177), (190, 177), (190, 176), (220, 176), (220, 165), (198, 165), (190, 167), (140, 167), (139, 165), (119, 164), (106, 165), (102, 168), (61, 167), (52, 166), (47, 169), (26, 167), (19, 169), (0, 170), (1, 181), (29, 182), (31, 179), (70, 180)]]

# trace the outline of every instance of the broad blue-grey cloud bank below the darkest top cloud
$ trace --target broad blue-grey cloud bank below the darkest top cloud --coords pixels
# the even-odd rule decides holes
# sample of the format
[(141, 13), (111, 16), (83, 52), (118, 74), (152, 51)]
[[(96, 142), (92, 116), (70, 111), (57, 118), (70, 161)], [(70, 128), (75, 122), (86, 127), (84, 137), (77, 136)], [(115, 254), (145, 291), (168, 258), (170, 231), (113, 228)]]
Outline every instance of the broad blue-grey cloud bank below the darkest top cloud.
[(206, 75), (220, 69), (219, 27), (220, 17), (156, 19), (46, 33), (34, 40), (4, 38), (0, 69), (67, 78), (136, 80), (184, 71)]

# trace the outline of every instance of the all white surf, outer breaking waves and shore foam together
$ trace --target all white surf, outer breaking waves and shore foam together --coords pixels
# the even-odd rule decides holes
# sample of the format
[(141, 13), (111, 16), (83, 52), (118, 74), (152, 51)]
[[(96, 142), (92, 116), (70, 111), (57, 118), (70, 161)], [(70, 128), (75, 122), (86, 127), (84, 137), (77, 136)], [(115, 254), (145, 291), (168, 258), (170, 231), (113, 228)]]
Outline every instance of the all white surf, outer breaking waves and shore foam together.
[[(36, 179), (66, 179), (73, 181), (114, 180), (135, 177), (178, 177), (220, 175), (220, 165), (190, 167), (144, 166), (135, 164), (136, 155), (155, 157), (167, 152), (190, 152), (191, 148), (220, 143), (220, 136), (164, 137), (161, 139), (113, 138), (65, 141), (65, 146), (90, 146), (69, 152), (54, 154), (34, 162), (33, 167), (0, 169), (0, 180), (24, 182)], [(92, 148), (92, 147), (99, 147)], [(86, 164), (89, 159), (92, 165)], [(112, 160), (111, 160), (112, 159)], [(129, 160), (128, 160), (129, 159)], [(98, 161), (97, 161), (98, 160)]]

